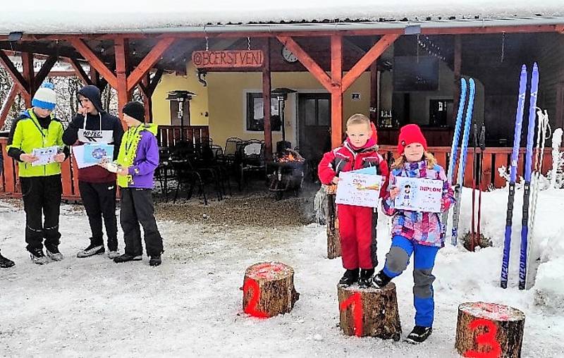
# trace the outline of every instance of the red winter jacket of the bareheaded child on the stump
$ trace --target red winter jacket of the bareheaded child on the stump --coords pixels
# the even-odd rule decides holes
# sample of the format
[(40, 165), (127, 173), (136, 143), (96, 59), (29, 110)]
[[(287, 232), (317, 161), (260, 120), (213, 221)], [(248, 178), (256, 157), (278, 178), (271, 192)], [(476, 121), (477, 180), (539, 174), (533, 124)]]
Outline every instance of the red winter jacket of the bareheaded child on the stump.
[(384, 197), (388, 187), (388, 163), (386, 163), (383, 156), (376, 152), (377, 148), (377, 146), (374, 146), (355, 150), (345, 141), (343, 146), (324, 154), (317, 167), (319, 180), (323, 184), (330, 185), (333, 182), (333, 178), (338, 176), (341, 171), (354, 171), (360, 168), (375, 166), (376, 174), (386, 178), (380, 190), (380, 197)]

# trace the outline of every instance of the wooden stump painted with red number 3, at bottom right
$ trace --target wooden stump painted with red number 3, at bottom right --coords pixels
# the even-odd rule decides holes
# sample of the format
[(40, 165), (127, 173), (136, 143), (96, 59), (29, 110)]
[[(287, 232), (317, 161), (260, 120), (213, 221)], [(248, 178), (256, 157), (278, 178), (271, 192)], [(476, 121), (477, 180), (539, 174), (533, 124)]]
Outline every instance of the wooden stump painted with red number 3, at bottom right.
[(525, 314), (486, 302), (458, 306), (455, 347), (464, 357), (521, 357)]

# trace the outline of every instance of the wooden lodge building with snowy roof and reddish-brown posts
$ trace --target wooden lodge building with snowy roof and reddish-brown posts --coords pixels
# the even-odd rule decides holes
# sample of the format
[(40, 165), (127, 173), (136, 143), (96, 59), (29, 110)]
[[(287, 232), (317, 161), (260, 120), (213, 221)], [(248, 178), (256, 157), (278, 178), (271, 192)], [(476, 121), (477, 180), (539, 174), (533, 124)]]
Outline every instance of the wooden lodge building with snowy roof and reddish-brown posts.
[[(162, 146), (209, 137), (223, 147), (239, 137), (264, 140), (268, 157), (284, 132), (315, 163), (341, 143), (346, 118), (360, 112), (376, 123), (384, 152), (393, 155), (400, 126), (418, 123), (445, 164), (458, 84), (472, 77), (474, 119), (485, 121), (488, 147), (481, 185), (500, 187), (505, 182), (496, 168), (507, 166), (513, 145), (523, 63), (529, 71), (539, 63), (537, 105), (548, 110), (552, 128), (564, 126), (564, 8), (560, 1), (540, 2), (500, 0), (484, 8), (462, 0), (441, 6), (365, 0), (350, 8), (324, 1), (316, 8), (315, 1), (258, 7), (243, 1), (217, 11), (165, 1), (90, 13), (51, 4), (41, 18), (8, 8), (0, 14), (0, 64), (14, 85), (1, 98), (0, 127), (16, 95), (29, 105), (39, 85), (56, 75), (52, 66), (66, 61), (85, 84), (113, 87), (120, 111), (138, 87), (147, 118), (161, 125)], [(34, 70), (38, 56), (46, 61)], [(276, 89), (290, 90), (284, 101)], [(173, 91), (190, 92), (182, 121), (179, 102), (168, 97)], [(0, 192), (13, 195), (16, 167), (6, 156), (6, 139), (0, 144)], [(63, 187), (65, 197), (78, 197), (69, 161)]]

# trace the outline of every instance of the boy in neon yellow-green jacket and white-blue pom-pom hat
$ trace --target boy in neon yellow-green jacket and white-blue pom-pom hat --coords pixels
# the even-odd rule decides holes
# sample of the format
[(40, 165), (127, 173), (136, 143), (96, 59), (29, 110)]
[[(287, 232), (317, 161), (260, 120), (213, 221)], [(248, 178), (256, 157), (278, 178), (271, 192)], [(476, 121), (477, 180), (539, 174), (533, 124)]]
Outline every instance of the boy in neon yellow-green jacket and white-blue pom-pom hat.
[[(39, 88), (27, 109), (12, 122), (8, 137), (8, 155), (18, 162), (20, 187), (25, 210), (25, 242), (35, 264), (47, 264), (43, 253), (43, 240), (47, 256), (63, 259), (59, 252), (59, 210), (63, 187), (61, 163), (68, 158), (68, 147), (63, 147), (63, 125), (52, 111), (56, 106), (56, 93), (51, 83)], [(34, 149), (57, 147), (63, 149), (48, 163), (34, 164), (40, 160)], [(43, 218), (44, 216), (44, 218)]]

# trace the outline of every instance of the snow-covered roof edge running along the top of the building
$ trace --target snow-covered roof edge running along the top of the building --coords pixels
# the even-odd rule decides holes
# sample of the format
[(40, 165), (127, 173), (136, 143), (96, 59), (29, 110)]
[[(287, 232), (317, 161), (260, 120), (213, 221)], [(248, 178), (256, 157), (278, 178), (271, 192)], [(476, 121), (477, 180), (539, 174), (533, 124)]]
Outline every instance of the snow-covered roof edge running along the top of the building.
[(251, 24), (255, 25), (252, 30), (257, 24), (273, 27), (281, 23), (280, 30), (296, 23), (302, 27), (311, 23), (369, 23), (373, 27), (395, 23), (405, 27), (421, 21), (422, 26), (440, 27), (462, 19), (462, 25), (494, 24), (487, 20), (503, 20), (507, 25), (563, 24), (562, 4), (562, 0), (97, 0), (94, 4), (21, 0), (2, 4), (0, 35), (176, 32), (202, 30), (204, 26), (212, 32), (218, 25), (228, 25), (221, 26), (224, 31), (226, 27), (241, 30)]

